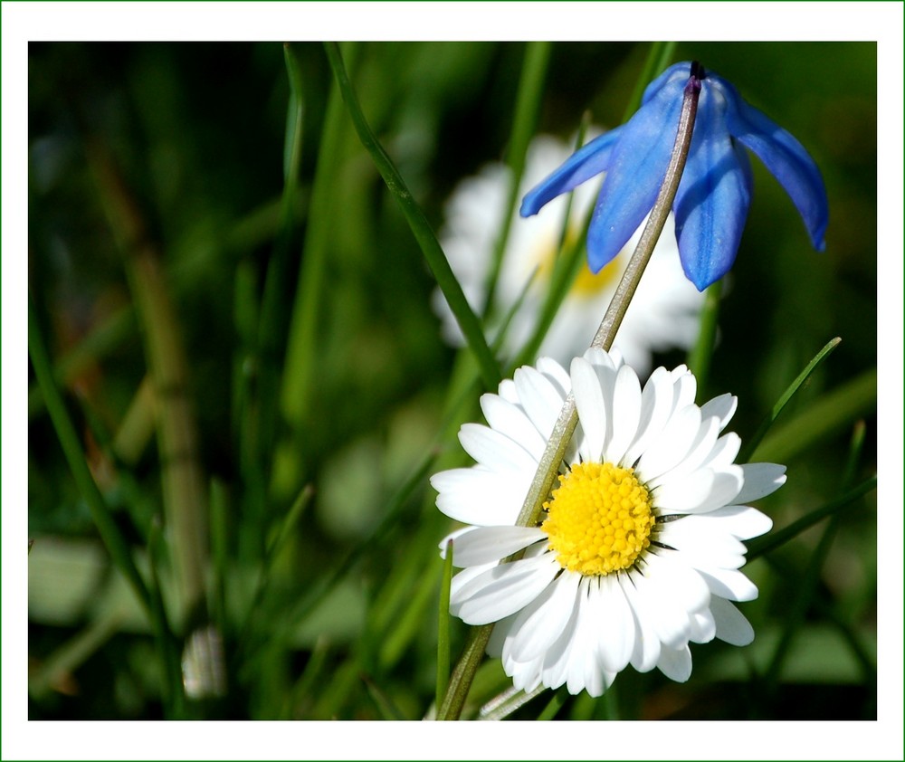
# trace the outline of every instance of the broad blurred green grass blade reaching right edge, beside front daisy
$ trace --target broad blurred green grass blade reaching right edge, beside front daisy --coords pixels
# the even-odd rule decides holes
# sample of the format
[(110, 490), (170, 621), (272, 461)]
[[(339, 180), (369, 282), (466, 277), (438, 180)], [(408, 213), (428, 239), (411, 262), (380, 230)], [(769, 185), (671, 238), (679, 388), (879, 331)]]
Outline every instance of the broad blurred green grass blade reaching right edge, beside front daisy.
[(753, 451), (752, 459), (786, 463), (812, 444), (869, 415), (877, 407), (877, 369), (872, 368), (851, 381), (825, 392), (811, 405), (777, 425)]

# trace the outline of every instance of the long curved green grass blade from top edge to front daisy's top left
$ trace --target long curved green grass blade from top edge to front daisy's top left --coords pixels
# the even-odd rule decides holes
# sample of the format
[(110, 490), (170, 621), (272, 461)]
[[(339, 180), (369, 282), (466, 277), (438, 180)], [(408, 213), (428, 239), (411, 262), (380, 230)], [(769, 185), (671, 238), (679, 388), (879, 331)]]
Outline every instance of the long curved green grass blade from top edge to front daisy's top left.
[(433, 277), (436, 279), (441, 291), (443, 291), (443, 296), (446, 298), (452, 314), (458, 320), (459, 327), (462, 329), (462, 334), (469, 348), (471, 348), (477, 358), (484, 386), (488, 389), (495, 389), (500, 384), (502, 376), (500, 376), (500, 367), (487, 345), (487, 339), (481, 329), (481, 321), (472, 311), (468, 300), (465, 299), (462, 286), (456, 280), (455, 275), (452, 274), (450, 263), (446, 260), (446, 255), (433, 234), (431, 225), (424, 217), (421, 207), (414, 201), (408, 187), (405, 186), (405, 181), (396, 171), (393, 161), (386, 154), (386, 151), (377, 141), (376, 136), (367, 124), (367, 119), (365, 119), (365, 115), (358, 105), (355, 90), (353, 90), (352, 83), (348, 79), (348, 73), (343, 63), (342, 54), (339, 52), (338, 44), (324, 43), (324, 47), (343, 100), (346, 101), (348, 113), (355, 126), (358, 138), (374, 160), (377, 171), (384, 178), (386, 187), (398, 202), (415, 240), (421, 246), (424, 258), (427, 260), (431, 271), (433, 271)]

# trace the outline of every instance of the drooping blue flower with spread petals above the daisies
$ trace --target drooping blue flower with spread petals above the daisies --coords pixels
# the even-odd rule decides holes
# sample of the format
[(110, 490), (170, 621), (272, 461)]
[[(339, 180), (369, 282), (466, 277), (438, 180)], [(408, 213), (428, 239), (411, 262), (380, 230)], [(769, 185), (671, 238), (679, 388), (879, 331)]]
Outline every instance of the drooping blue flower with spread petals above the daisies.
[[(664, 71), (644, 90), (632, 119), (576, 151), (522, 201), (523, 217), (537, 214), (557, 195), (605, 172), (587, 232), (592, 271), (614, 258), (653, 208), (690, 71), (688, 62)], [(824, 250), (828, 215), (824, 181), (801, 143), (746, 103), (728, 81), (710, 72), (702, 76), (691, 148), (672, 205), (682, 268), (700, 291), (729, 271), (738, 252), (751, 201), (745, 148), (786, 188), (818, 251)]]

